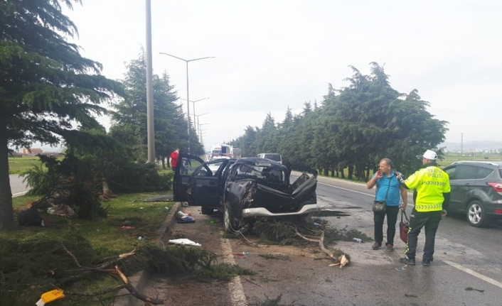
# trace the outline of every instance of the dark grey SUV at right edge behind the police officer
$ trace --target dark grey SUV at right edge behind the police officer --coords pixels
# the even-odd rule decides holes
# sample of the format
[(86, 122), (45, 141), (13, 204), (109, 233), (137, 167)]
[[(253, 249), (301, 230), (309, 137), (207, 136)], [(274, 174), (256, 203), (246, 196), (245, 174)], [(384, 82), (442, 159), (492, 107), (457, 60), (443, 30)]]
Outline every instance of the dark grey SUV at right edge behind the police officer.
[(502, 162), (458, 161), (443, 170), (452, 187), (449, 212), (465, 213), (476, 227), (502, 219)]

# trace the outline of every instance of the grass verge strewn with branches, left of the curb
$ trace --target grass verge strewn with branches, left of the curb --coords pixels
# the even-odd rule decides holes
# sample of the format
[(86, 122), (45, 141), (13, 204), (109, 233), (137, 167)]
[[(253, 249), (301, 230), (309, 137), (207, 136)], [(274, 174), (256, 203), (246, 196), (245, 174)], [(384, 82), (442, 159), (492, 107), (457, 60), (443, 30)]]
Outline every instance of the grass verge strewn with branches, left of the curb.
[[(82, 267), (99, 266), (102, 258), (118, 256), (133, 249), (149, 248), (159, 239), (157, 229), (166, 219), (173, 202), (137, 202), (165, 192), (142, 192), (118, 195), (103, 202), (108, 209), (107, 218), (92, 220), (58, 217), (41, 212), (49, 219), (50, 226), (18, 226), (18, 230), (0, 233), (0, 300), (5, 305), (34, 305), (42, 293), (55, 288), (62, 278), (78, 270), (73, 258), (63, 246), (78, 259)], [(16, 214), (26, 209), (36, 197), (15, 197), (13, 206)], [(122, 226), (134, 228), (122, 229)], [(145, 237), (145, 240), (139, 240)], [(134, 263), (139, 256), (133, 256), (132, 264), (125, 265), (124, 274), (145, 268)], [(9, 280), (9, 281), (8, 281)], [(3, 283), (5, 281), (5, 283)], [(105, 273), (92, 272), (64, 285), (66, 292), (95, 293), (117, 285), (122, 280), (111, 278)], [(15, 288), (13, 288), (13, 286)], [(62, 285), (63, 287), (63, 285)], [(51, 303), (60, 305), (110, 305), (115, 293), (99, 297), (67, 297)]]

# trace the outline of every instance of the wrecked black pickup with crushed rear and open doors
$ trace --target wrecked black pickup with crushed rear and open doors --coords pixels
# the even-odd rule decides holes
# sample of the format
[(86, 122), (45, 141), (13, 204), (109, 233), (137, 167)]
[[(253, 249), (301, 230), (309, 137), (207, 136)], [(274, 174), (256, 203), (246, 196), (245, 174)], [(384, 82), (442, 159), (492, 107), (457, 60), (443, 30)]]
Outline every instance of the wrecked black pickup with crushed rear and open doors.
[[(235, 231), (260, 217), (306, 217), (319, 212), (316, 201), (317, 171), (287, 168), (265, 158), (230, 158), (203, 162), (192, 155), (193, 170), (175, 170), (174, 200), (201, 206), (203, 214), (218, 209), (224, 214), (225, 229)], [(299, 177), (290, 182), (291, 170)]]

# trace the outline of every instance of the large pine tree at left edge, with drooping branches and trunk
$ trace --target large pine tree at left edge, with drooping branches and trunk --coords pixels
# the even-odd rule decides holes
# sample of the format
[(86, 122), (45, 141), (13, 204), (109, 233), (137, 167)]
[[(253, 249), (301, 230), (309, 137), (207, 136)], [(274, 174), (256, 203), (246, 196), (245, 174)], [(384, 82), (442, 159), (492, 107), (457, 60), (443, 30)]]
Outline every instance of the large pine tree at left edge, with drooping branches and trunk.
[(100, 128), (100, 104), (122, 93), (118, 82), (100, 75), (102, 66), (80, 55), (67, 38), (78, 35), (61, 11), (80, 0), (0, 1), (0, 230), (15, 229), (9, 182), (9, 146), (35, 141), (81, 143)]

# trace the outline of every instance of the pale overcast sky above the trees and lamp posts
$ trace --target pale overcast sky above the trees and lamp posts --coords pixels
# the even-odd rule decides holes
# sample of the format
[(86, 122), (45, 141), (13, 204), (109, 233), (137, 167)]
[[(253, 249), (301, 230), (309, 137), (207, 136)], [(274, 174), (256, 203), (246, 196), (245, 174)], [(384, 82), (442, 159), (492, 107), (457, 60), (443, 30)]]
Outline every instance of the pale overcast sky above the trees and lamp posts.
[[(122, 79), (145, 45), (145, 1), (83, 0), (65, 13), (82, 55)], [(321, 102), (329, 83), (348, 84), (348, 65), (367, 74), (370, 62), (449, 121), (447, 141), (502, 141), (502, 1), (151, 0), (151, 15), (154, 73), (166, 71), (178, 97), (186, 64), (159, 52), (215, 57), (188, 64), (190, 99), (209, 98), (196, 103), (209, 113), (199, 117), (206, 148), (261, 127), (268, 112), (277, 123), (288, 106)]]

